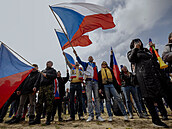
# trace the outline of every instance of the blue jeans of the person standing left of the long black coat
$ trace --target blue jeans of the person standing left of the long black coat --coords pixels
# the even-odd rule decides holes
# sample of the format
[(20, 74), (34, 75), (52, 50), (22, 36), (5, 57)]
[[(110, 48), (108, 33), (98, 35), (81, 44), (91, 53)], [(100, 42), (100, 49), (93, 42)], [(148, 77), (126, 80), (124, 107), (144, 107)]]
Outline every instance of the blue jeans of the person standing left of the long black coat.
[(130, 114), (133, 113), (133, 111), (132, 111), (132, 102), (131, 102), (131, 99), (130, 99), (130, 93), (131, 93), (132, 96), (133, 96), (134, 102), (136, 104), (136, 108), (137, 108), (138, 113), (142, 114), (141, 105), (140, 105), (140, 102), (139, 102), (139, 99), (138, 99), (136, 88), (134, 86), (125, 86), (125, 87), (122, 87), (122, 91), (123, 91), (124, 96), (125, 96), (125, 101), (126, 101), (128, 112)]

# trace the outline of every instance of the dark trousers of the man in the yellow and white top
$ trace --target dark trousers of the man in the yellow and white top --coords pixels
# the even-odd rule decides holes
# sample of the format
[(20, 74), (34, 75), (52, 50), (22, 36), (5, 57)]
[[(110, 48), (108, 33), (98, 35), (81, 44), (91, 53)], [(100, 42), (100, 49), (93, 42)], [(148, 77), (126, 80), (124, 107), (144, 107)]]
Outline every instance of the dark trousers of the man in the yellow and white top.
[(71, 83), (70, 84), (70, 117), (73, 119), (75, 119), (75, 108), (74, 108), (75, 91), (76, 91), (76, 96), (77, 96), (77, 99), (79, 102), (78, 116), (80, 117), (80, 116), (83, 116), (81, 83)]

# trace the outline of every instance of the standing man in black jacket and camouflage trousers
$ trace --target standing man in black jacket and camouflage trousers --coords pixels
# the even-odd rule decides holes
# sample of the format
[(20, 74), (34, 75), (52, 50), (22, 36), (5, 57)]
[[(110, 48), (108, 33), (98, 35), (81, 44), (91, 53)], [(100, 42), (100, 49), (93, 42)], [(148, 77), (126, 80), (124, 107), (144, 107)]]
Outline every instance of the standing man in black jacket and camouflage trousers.
[(46, 102), (46, 125), (50, 125), (54, 100), (54, 79), (57, 77), (57, 73), (56, 70), (52, 68), (52, 61), (48, 61), (46, 66), (46, 69), (42, 71), (38, 103), (36, 104), (36, 119), (32, 124), (41, 123), (40, 118), (43, 111), (43, 102)]

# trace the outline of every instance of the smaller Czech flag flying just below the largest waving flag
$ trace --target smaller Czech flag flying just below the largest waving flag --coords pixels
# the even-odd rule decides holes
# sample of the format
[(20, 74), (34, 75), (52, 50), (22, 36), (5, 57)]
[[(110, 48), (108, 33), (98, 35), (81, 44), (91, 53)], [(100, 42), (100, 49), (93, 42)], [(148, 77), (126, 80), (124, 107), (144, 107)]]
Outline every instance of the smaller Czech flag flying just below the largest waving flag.
[(91, 40), (89, 39), (89, 36), (87, 36), (87, 35), (83, 35), (77, 39), (72, 40), (71, 44), (70, 44), (64, 33), (58, 32), (57, 30), (55, 30), (55, 32), (59, 39), (62, 50), (66, 49), (68, 47), (71, 47), (71, 44), (73, 47), (76, 47), (76, 46), (86, 47), (86, 46), (92, 44)]

